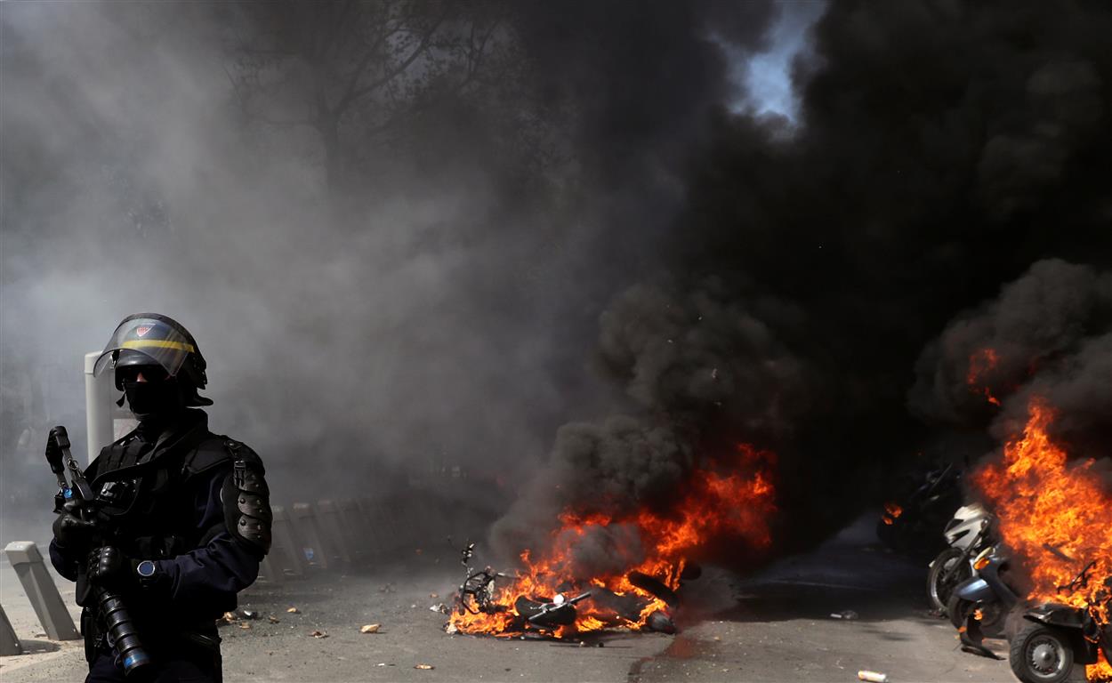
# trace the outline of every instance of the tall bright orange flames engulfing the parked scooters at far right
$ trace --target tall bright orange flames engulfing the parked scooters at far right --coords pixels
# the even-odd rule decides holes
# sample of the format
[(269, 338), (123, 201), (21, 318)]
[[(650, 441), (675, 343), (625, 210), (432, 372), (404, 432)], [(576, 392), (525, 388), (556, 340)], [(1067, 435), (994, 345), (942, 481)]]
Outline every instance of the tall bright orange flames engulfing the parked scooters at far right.
[[(1004, 543), (1025, 562), (1033, 585), (1027, 600), (1095, 605), (1094, 616), (1108, 624), (1101, 593), (1112, 576), (1112, 495), (1102, 488), (1092, 459), (1070, 465), (1065, 451), (1051, 441), (1053, 409), (1034, 398), (1027, 410), (1023, 436), (1007, 442), (1003, 462), (975, 473), (973, 483), (995, 508)], [(1090, 561), (1095, 565), (1086, 586), (1059, 590)], [(1110, 681), (1112, 667), (1102, 661), (1086, 667), (1086, 676)]]

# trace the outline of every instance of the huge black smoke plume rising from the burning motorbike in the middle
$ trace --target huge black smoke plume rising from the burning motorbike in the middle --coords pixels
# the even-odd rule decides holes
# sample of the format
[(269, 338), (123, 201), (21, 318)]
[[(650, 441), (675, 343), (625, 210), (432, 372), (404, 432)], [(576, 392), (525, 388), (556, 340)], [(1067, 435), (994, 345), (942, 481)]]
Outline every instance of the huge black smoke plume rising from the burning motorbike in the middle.
[[(600, 318), (602, 366), (632, 416), (564, 427), (495, 542), (543, 545), (556, 514), (597, 506), (607, 483), (652, 504), (731, 441), (781, 455), (775, 543), (821, 537), (901, 469), (984, 452), (940, 451), (920, 418), (976, 399), (951, 384), (973, 346), (1016, 331), (993, 327), (1013, 299), (1033, 298), (1034, 334), (1009, 342), (1054, 358), (1025, 390), (1052, 394), (1090, 451), (1108, 443), (1109, 31), (1100, 3), (832, 2), (793, 69), (797, 120), (706, 112), (668, 275)], [(963, 339), (969, 326), (985, 338)]]

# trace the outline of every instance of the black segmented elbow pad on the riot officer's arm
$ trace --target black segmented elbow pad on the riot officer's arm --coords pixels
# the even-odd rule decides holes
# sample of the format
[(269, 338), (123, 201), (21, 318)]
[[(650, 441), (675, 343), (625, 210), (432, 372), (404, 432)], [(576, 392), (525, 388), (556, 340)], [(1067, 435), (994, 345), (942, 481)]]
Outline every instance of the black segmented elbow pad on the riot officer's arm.
[(262, 477), (262, 461), (247, 446), (227, 443), (235, 466), (220, 489), (224, 518), (237, 542), (260, 555), (270, 550), (270, 489)]

